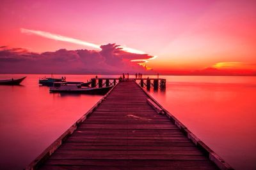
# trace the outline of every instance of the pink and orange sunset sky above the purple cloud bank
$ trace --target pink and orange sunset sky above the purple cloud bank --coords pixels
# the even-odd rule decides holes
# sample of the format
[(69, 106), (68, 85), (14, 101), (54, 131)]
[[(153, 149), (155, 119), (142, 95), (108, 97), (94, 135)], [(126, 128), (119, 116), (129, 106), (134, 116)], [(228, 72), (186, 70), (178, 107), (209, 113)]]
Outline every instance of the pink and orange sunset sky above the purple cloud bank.
[(163, 74), (209, 67), (256, 73), (255, 9), (256, 1), (242, 0), (4, 0), (0, 46), (42, 53), (62, 48), (100, 50), (100, 45), (116, 43), (157, 56), (147, 66)]

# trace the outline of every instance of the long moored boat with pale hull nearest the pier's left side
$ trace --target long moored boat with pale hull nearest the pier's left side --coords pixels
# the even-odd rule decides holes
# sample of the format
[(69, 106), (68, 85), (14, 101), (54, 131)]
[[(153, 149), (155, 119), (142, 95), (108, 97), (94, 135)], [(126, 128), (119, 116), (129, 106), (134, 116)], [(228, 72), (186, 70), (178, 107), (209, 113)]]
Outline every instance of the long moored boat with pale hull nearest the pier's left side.
[(79, 93), (79, 94), (106, 94), (111, 87), (83, 87), (81, 84), (68, 84), (56, 82), (50, 87), (50, 92), (65, 92), (65, 93)]

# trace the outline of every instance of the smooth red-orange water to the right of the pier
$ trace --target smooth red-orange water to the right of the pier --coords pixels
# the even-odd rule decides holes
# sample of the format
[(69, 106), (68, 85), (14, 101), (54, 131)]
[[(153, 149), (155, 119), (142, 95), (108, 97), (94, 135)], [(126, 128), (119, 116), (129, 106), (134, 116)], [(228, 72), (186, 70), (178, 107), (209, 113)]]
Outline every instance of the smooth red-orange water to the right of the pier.
[(235, 169), (256, 169), (256, 77), (162, 76), (150, 94)]

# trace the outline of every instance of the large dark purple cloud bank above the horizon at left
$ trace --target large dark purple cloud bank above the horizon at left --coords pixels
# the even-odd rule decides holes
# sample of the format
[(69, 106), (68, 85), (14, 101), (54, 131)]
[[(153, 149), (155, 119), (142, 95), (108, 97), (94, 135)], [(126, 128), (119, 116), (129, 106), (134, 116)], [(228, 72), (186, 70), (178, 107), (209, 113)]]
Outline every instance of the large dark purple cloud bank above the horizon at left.
[(147, 54), (123, 51), (115, 44), (96, 50), (66, 50), (33, 53), (24, 48), (0, 47), (0, 73), (136, 73), (145, 72), (131, 59), (149, 59)]

